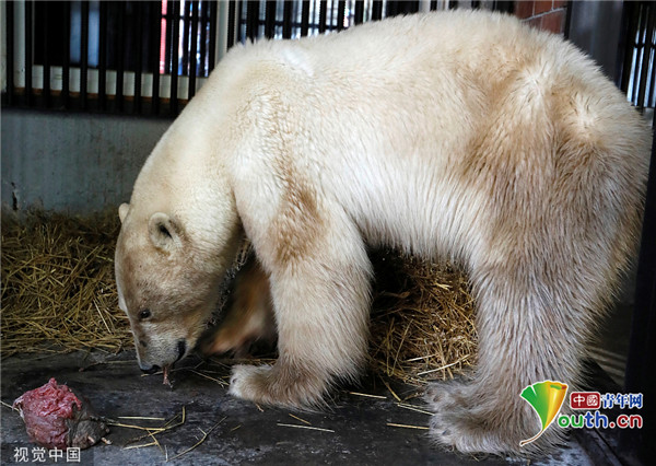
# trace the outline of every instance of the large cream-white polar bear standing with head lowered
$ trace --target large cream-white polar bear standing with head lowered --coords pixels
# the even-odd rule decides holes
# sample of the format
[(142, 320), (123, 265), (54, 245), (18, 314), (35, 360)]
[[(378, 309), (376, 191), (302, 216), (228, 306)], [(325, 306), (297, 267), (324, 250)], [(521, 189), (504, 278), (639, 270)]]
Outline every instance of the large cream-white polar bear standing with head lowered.
[(648, 128), (562, 38), (482, 12), (417, 14), (235, 47), (147, 160), (116, 248), (143, 370), (198, 341), (243, 233), (270, 281), (272, 366), (230, 393), (321, 404), (365, 361), (367, 245), (468, 271), (477, 368), (436, 384), (432, 436), (461, 452), (559, 441), (519, 396), (576, 386), (634, 253)]

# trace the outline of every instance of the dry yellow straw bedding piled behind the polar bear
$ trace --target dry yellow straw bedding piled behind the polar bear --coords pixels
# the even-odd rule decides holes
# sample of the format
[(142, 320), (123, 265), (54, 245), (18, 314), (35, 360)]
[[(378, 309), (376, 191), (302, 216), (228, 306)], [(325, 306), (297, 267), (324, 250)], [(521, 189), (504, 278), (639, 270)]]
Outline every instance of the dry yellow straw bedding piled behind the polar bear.
[[(79, 218), (2, 215), (2, 358), (16, 352), (132, 347), (118, 308), (112, 210)], [(370, 361), (380, 375), (422, 384), (448, 378), (476, 358), (466, 277), (394, 252), (371, 255), (376, 272)]]

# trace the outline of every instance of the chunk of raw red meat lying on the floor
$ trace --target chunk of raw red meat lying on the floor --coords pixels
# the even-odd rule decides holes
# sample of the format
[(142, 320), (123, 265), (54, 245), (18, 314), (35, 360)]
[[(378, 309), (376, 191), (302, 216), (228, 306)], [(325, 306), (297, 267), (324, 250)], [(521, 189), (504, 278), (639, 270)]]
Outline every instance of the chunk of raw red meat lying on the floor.
[(25, 392), (13, 403), (21, 412), (30, 439), (48, 448), (86, 448), (108, 432), (87, 400), (55, 378), (42, 387)]

